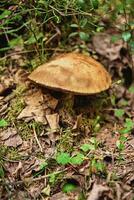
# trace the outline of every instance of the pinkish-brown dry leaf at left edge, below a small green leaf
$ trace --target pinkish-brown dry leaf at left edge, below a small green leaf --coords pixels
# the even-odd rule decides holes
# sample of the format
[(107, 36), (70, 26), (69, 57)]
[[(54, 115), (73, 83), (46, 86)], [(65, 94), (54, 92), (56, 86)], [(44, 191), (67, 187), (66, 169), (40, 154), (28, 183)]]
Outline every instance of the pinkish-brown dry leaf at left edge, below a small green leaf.
[(3, 144), (8, 147), (17, 147), (22, 144), (22, 139), (18, 135), (16, 129), (8, 128), (0, 134)]

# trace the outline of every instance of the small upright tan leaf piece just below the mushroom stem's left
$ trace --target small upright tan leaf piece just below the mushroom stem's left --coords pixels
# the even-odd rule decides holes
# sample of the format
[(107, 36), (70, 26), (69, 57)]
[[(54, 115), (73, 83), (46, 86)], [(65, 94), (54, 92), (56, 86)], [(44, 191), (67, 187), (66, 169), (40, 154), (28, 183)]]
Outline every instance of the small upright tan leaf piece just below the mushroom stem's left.
[(46, 115), (46, 119), (52, 131), (56, 131), (59, 128), (59, 115), (54, 113), (51, 115)]

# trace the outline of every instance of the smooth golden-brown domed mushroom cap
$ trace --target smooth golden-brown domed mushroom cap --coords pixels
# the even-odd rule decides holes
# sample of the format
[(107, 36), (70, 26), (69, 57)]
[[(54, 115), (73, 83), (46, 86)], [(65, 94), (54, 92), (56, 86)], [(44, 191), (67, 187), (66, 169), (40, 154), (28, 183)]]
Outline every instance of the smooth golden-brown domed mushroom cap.
[(94, 94), (108, 89), (111, 77), (93, 58), (67, 53), (39, 66), (29, 76), (45, 87), (74, 94)]

